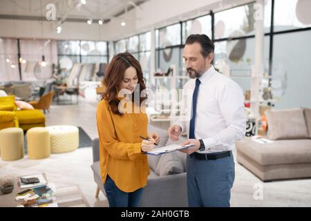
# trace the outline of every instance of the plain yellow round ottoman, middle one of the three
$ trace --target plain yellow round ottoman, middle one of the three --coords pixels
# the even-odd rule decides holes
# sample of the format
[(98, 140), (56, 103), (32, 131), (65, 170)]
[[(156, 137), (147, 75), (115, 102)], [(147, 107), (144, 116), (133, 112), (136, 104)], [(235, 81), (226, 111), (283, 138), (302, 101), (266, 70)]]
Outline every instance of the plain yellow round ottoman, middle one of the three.
[(34, 127), (27, 131), (28, 157), (43, 159), (50, 156), (50, 133), (44, 127)]

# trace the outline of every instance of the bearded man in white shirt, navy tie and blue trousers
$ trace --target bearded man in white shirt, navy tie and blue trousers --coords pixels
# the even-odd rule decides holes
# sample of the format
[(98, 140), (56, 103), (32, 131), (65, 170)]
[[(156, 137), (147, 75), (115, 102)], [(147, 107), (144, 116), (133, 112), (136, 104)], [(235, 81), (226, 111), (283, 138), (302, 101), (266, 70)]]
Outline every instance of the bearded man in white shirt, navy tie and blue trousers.
[(244, 95), (236, 82), (218, 73), (211, 61), (214, 43), (207, 35), (190, 35), (183, 52), (189, 80), (191, 105), (183, 111), (191, 113), (168, 130), (171, 140), (187, 131), (195, 146), (187, 153), (187, 189), (189, 206), (230, 206), (234, 183), (232, 150), (236, 140), (245, 135)]

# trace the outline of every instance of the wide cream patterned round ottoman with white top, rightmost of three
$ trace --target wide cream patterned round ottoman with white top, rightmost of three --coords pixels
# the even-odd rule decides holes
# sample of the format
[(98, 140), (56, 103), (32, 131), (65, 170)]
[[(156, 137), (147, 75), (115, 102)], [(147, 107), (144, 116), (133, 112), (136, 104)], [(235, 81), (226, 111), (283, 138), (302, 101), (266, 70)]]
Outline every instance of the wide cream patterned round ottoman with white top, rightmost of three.
[(51, 153), (66, 153), (78, 148), (79, 129), (77, 126), (57, 125), (46, 128), (50, 131)]

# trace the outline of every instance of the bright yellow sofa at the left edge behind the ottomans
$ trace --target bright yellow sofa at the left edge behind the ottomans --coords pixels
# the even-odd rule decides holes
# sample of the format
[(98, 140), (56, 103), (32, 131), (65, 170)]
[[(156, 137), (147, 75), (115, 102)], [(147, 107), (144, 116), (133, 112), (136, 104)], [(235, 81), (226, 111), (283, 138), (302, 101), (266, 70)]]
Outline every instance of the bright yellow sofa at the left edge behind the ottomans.
[(15, 96), (0, 97), (0, 129), (20, 127), (23, 131), (37, 126), (45, 126), (46, 117), (40, 110), (17, 111)]

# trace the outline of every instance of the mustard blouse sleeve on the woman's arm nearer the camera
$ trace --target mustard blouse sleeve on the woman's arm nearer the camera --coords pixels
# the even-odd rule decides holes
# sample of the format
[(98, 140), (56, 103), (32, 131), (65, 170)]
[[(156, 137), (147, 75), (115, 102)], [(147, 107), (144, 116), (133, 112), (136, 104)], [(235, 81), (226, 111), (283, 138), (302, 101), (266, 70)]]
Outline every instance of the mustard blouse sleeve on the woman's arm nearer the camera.
[(141, 155), (141, 143), (120, 142), (115, 137), (111, 112), (104, 102), (97, 107), (97, 130), (100, 142), (109, 155), (118, 160), (135, 160)]

